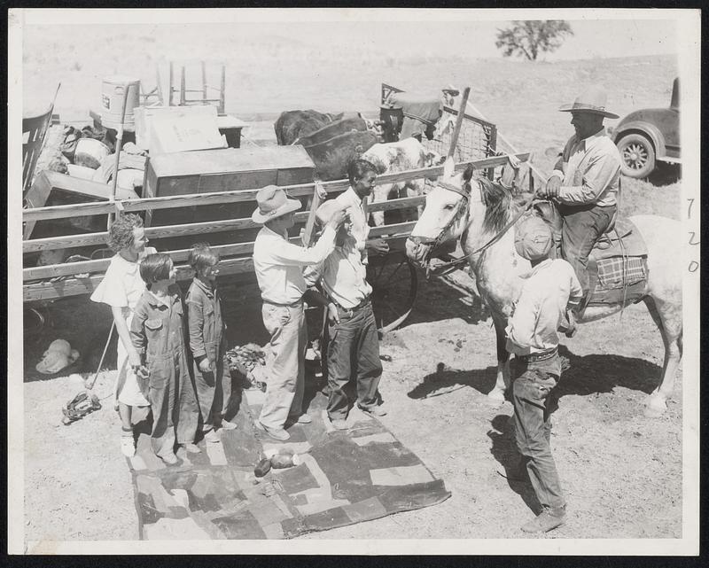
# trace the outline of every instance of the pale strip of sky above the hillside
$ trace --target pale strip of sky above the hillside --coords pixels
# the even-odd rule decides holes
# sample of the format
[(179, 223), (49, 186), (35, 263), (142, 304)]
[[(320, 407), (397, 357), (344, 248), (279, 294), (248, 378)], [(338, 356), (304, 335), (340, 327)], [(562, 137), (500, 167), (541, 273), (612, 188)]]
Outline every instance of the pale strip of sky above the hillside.
[[(229, 28), (235, 35), (258, 43), (278, 35), (292, 43), (330, 44), (357, 50), (386, 52), (391, 57), (457, 54), (502, 58), (495, 47), (498, 28), (512, 19), (566, 19), (573, 29), (546, 60), (612, 58), (677, 53), (674, 19), (668, 10), (28, 10), (26, 25), (108, 25), (152, 23), (158, 27), (189, 24), (194, 29)], [(687, 12), (687, 11), (684, 11)], [(229, 23), (225, 23), (229, 22)]]

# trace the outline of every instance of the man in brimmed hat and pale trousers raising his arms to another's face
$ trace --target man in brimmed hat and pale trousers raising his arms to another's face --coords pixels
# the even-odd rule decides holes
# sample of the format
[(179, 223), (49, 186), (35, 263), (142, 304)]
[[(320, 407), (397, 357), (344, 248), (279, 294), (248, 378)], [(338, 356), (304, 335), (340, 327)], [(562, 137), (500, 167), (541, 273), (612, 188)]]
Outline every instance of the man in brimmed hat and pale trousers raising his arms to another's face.
[(256, 194), (256, 202), (259, 207), (251, 218), (264, 227), (253, 243), (253, 269), (261, 289), (263, 324), (271, 336), (272, 354), (266, 400), (256, 425), (276, 440), (288, 440), (290, 434), (284, 426), (289, 418), (301, 424), (311, 422), (301, 408), (308, 342), (302, 300), (307, 286), (302, 269), (322, 262), (332, 252), (336, 230), (345, 214), (332, 215), (316, 245), (304, 248), (289, 242), (287, 233), (300, 201), (287, 198), (281, 188), (269, 185)]

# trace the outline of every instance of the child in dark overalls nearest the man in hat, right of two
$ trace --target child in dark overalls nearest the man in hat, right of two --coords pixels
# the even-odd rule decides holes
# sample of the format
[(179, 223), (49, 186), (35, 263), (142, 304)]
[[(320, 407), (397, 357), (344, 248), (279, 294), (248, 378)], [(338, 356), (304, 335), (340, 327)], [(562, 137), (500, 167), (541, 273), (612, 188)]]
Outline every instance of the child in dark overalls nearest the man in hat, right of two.
[[(237, 425), (225, 420), (231, 376), (226, 361), (226, 326), (222, 320), (222, 301), (216, 287), (219, 256), (206, 245), (193, 245), (188, 261), (195, 276), (187, 292), (187, 322), (190, 349), (194, 359), (194, 382), (202, 417), (202, 433), (207, 442), (220, 441), (217, 430), (234, 430)], [(226, 381), (226, 385), (222, 385)], [(226, 392), (225, 392), (226, 391)]]

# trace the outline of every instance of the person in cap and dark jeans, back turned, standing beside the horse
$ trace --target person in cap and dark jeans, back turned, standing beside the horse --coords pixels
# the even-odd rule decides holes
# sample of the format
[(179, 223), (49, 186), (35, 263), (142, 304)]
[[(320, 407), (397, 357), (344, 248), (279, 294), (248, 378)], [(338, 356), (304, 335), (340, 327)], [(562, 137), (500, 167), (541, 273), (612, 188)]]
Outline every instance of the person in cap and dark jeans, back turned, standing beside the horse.
[(539, 217), (520, 222), (515, 236), (517, 253), (532, 264), (507, 326), (507, 350), (515, 354), (512, 384), (515, 440), (522, 455), (541, 514), (522, 530), (547, 532), (565, 523), (566, 502), (557, 467), (551, 455), (549, 395), (561, 376), (557, 328), (567, 307), (581, 298), (581, 288), (572, 266), (549, 259), (553, 243), (549, 225)]

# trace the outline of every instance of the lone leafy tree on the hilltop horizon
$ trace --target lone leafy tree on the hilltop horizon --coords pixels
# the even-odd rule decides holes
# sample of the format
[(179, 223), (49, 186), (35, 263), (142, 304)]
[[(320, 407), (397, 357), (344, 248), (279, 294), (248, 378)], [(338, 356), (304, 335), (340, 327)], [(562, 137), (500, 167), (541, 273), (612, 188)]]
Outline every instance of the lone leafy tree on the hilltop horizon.
[(497, 30), (495, 46), (502, 48), (504, 57), (521, 55), (536, 61), (541, 53), (561, 47), (568, 35), (573, 31), (564, 19), (516, 19), (512, 27)]

